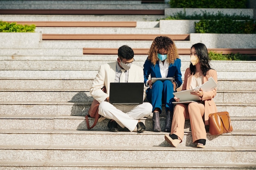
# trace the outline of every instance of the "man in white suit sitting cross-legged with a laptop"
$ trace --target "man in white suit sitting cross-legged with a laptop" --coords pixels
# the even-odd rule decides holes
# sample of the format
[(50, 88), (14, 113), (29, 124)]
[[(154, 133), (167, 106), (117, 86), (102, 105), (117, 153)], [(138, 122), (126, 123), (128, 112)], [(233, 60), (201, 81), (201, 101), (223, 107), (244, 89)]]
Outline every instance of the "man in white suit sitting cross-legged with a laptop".
[[(90, 88), (90, 94), (100, 103), (99, 115), (110, 119), (108, 128), (112, 132), (118, 132), (117, 124), (130, 131), (134, 131), (137, 126), (137, 132), (143, 132), (146, 127), (139, 119), (148, 117), (152, 113), (152, 105), (148, 102), (138, 105), (109, 103), (111, 82), (144, 82), (143, 69), (132, 64), (135, 61), (133, 57), (134, 52), (129, 46), (121, 46), (118, 49), (117, 61), (101, 65)], [(101, 90), (103, 86), (106, 86), (107, 93)], [(145, 97), (146, 91), (144, 90), (144, 99)]]

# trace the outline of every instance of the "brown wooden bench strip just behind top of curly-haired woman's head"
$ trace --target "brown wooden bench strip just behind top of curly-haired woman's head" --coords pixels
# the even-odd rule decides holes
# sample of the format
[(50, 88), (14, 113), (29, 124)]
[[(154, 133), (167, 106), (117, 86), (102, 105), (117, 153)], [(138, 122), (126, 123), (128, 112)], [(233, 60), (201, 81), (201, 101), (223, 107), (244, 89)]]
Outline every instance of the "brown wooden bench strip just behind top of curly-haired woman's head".
[[(161, 34), (43, 34), (43, 40), (154, 40)], [(189, 34), (162, 35), (173, 40), (189, 40)]]

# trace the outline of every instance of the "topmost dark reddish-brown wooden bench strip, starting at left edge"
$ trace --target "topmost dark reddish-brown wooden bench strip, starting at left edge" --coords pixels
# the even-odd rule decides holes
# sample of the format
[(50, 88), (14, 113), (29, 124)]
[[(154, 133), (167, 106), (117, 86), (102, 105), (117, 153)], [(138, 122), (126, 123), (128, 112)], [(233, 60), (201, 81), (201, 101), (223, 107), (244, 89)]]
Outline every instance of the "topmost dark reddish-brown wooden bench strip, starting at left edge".
[(164, 15), (164, 9), (1, 9), (3, 15)]

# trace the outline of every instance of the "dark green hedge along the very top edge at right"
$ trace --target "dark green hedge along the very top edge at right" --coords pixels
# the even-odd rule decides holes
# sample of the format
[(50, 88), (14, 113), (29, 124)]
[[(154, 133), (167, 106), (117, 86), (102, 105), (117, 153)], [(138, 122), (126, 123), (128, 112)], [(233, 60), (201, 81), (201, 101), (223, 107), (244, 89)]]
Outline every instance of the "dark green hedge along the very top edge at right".
[(170, 0), (171, 8), (246, 8), (247, 0)]

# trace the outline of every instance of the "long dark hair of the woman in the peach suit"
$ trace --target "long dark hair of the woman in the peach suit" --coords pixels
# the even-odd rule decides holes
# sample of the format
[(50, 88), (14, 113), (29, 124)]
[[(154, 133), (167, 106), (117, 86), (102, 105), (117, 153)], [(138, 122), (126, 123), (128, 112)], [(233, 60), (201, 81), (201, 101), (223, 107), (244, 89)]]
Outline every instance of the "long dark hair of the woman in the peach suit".
[[(208, 51), (207, 48), (204, 44), (202, 43), (197, 43), (191, 46), (195, 48), (196, 54), (198, 55), (199, 58), (199, 62), (200, 62), (200, 66), (201, 66), (201, 70), (203, 72), (203, 75), (205, 76), (207, 74), (207, 71), (212, 69), (209, 62), (211, 61), (211, 59), (208, 56)], [(193, 66), (193, 64), (191, 63), (190, 66), (190, 73), (191, 75), (195, 75), (195, 71), (196, 68), (195, 66)]]

